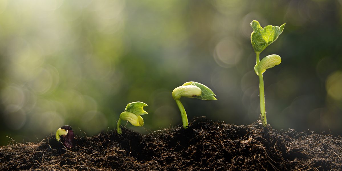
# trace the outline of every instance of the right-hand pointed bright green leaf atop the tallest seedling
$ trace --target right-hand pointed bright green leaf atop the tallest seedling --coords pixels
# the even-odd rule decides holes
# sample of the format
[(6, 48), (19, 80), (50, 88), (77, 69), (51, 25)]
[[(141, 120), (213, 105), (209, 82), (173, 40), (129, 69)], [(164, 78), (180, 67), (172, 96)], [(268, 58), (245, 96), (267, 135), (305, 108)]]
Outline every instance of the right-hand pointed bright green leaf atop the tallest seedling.
[(281, 25), (280, 27), (268, 25), (260, 30), (262, 39), (266, 42), (267, 46), (278, 39), (279, 35), (282, 33), (282, 30), (284, 30), (285, 24)]

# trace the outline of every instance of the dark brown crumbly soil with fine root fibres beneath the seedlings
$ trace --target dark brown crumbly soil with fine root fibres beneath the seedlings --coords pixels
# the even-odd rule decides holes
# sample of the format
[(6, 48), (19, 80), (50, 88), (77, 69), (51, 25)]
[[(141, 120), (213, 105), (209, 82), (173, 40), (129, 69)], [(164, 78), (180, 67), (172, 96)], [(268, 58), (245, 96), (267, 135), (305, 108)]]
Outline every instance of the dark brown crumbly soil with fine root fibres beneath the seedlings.
[[(0, 170), (342, 170), (341, 136), (236, 126), (195, 118), (141, 135), (126, 128), (76, 137), (63, 149), (53, 136), (0, 147)], [(50, 148), (51, 146), (51, 148)]]

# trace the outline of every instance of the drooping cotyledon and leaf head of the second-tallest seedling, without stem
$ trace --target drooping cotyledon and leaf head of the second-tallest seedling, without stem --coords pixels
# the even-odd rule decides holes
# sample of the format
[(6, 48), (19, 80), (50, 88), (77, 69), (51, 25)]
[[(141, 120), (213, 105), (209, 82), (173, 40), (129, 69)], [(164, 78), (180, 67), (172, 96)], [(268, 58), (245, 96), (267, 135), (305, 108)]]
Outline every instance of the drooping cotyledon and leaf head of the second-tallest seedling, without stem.
[(174, 100), (179, 100), (181, 97), (198, 98), (200, 100), (217, 100), (214, 92), (212, 92), (207, 86), (189, 81), (182, 86), (177, 87), (172, 92)]

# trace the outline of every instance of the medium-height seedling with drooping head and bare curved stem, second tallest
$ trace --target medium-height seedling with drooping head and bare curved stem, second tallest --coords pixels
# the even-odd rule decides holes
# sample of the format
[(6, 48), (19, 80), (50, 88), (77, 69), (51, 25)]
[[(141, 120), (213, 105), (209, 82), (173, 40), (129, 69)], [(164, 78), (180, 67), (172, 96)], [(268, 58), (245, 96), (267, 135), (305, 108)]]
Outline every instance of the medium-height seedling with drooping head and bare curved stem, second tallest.
[(183, 128), (188, 128), (188, 117), (186, 116), (186, 112), (184, 109), (183, 104), (180, 101), (181, 97), (188, 97), (188, 98), (198, 98), (201, 100), (217, 100), (215, 94), (205, 85), (190, 81), (184, 83), (182, 86), (175, 88), (172, 91), (172, 97), (176, 101), (179, 110), (181, 111), (182, 121), (183, 121)]

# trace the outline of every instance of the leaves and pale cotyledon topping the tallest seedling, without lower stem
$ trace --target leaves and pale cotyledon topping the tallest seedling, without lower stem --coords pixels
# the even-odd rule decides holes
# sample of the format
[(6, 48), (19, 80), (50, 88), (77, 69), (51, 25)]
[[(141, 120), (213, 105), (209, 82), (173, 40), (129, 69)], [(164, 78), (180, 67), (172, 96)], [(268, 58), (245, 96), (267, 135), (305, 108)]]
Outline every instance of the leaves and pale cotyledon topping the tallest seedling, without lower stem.
[[(260, 26), (260, 23), (256, 20), (253, 20), (250, 24), (253, 28), (253, 32), (251, 34), (251, 43), (254, 49), (254, 52), (258, 55), (259, 60), (259, 54), (268, 47), (271, 43), (276, 41), (279, 37), (279, 35), (282, 33), (285, 27), (284, 23), (280, 27), (278, 26), (272, 26), (268, 25), (265, 28), (262, 28)], [(279, 65), (281, 63), (281, 58), (279, 55), (268, 55), (264, 57), (259, 64), (257, 63), (254, 66), (254, 71), (257, 75), (260, 73), (264, 73), (266, 69), (272, 68), (276, 65)]]

